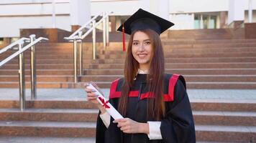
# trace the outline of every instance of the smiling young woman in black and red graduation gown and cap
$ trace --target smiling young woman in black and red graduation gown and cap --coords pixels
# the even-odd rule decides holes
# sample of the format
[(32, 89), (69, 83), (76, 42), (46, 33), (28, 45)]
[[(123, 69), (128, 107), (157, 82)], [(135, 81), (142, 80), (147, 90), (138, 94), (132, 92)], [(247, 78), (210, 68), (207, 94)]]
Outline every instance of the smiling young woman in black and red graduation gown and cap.
[(160, 34), (170, 26), (170, 21), (139, 9), (119, 27), (131, 36), (124, 77), (112, 82), (109, 102), (124, 119), (111, 118), (86, 88), (88, 101), (100, 109), (97, 143), (196, 142), (185, 79), (165, 74)]

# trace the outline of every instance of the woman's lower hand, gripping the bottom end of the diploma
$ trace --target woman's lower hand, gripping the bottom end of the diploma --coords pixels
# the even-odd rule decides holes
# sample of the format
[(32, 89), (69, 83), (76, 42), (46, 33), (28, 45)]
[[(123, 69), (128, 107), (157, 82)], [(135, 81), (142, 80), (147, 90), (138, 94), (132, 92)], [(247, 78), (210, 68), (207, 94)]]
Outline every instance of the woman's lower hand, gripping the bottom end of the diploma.
[(129, 118), (116, 119), (114, 120), (114, 123), (118, 123), (117, 127), (119, 127), (124, 133), (150, 133), (149, 125), (147, 123), (136, 122)]

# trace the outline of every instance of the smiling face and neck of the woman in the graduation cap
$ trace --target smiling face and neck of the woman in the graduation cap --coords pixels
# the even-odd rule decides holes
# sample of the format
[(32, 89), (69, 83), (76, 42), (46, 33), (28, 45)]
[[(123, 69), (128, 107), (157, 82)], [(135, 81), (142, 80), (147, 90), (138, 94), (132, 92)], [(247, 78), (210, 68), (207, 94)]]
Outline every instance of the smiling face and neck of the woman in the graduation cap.
[(150, 68), (153, 49), (150, 37), (142, 31), (136, 31), (132, 40), (132, 56), (140, 64), (140, 69)]

